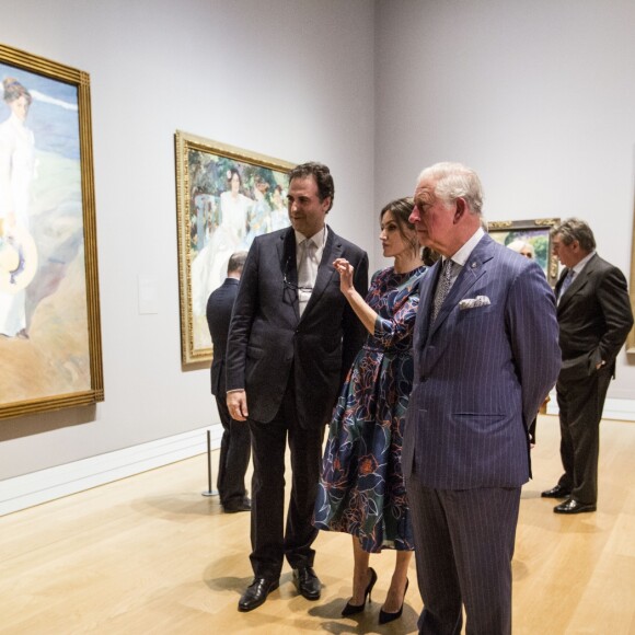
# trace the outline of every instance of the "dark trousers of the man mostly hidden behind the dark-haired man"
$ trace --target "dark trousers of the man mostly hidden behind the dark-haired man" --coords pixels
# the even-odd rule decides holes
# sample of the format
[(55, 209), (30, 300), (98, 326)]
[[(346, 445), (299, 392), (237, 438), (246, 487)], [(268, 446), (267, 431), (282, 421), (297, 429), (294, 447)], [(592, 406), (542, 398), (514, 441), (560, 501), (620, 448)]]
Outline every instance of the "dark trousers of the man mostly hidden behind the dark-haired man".
[(231, 418), (226, 397), (216, 397), (222, 424), (216, 486), (223, 507), (240, 505), (246, 496), (245, 473), (250, 464), (251, 437), (246, 422)]

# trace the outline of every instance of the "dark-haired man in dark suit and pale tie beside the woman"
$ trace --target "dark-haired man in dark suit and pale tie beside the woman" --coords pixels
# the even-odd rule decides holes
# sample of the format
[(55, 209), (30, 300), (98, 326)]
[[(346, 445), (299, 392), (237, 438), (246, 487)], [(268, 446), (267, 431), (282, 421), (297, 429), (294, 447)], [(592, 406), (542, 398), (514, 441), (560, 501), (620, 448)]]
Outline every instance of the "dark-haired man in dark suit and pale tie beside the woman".
[[(363, 327), (339, 291), (333, 267), (355, 267), (366, 295), (368, 256), (325, 224), (333, 177), (320, 163), (289, 174), (291, 228), (257, 236), (250, 250), (231, 321), (228, 407), (252, 435), (254, 581), (239, 610), (259, 607), (278, 587), (285, 556), (298, 591), (320, 598), (311, 547), (322, 440), (343, 379), (363, 342)], [(291, 500), (285, 515), (285, 450), (291, 452)]]

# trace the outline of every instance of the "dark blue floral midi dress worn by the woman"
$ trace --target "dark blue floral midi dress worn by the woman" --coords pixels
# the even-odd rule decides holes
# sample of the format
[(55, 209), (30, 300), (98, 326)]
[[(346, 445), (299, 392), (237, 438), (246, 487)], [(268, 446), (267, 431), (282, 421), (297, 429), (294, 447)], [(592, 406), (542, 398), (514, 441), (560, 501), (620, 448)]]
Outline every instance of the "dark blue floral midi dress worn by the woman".
[(401, 454), (425, 270), (390, 267), (373, 276), (366, 301), (378, 314), (374, 334), (348, 372), (322, 462), (315, 527), (356, 535), (371, 553), (414, 549)]

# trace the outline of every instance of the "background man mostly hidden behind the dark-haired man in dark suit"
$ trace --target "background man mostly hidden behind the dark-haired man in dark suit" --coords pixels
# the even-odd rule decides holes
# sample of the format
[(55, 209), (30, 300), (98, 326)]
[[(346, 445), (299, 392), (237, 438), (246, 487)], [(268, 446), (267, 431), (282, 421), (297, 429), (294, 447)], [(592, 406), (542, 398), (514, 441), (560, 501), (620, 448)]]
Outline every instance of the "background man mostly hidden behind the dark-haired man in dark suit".
[(231, 418), (224, 388), (227, 335), (246, 257), (247, 252), (236, 252), (230, 256), (224, 282), (212, 291), (207, 300), (207, 324), (213, 346), (211, 394), (216, 396), (216, 405), (222, 424), (216, 486), (222, 509), (227, 513), (249, 511), (252, 508), (245, 489), (245, 472), (251, 454), (250, 429), (242, 422), (234, 422)]

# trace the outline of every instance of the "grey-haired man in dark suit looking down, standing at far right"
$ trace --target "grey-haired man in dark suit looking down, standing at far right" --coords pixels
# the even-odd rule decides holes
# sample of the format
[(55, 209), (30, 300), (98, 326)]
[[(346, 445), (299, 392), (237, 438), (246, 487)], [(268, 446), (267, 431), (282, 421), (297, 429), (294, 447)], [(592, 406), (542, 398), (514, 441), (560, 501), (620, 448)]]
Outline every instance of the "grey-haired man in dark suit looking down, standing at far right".
[(600, 419), (615, 357), (633, 326), (626, 279), (596, 253), (591, 228), (577, 218), (552, 230), (565, 266), (556, 284), (563, 367), (556, 383), (565, 473), (544, 498), (566, 498), (556, 513), (596, 511)]

